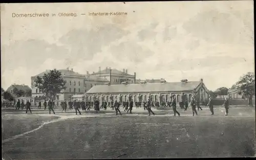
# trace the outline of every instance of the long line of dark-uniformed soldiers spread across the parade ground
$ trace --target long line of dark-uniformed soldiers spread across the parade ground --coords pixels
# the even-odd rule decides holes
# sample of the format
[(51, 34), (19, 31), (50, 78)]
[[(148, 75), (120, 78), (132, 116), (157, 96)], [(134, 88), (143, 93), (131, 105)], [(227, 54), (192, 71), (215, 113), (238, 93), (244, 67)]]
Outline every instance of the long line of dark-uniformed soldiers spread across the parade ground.
[[(167, 104), (167, 106), (166, 106)], [(81, 112), (80, 112), (80, 108), (82, 108), (82, 110), (90, 110), (90, 108), (94, 108), (94, 110), (96, 110), (97, 112), (99, 112), (99, 108), (104, 108), (104, 110), (106, 110), (107, 107), (110, 107), (112, 108), (113, 110), (115, 109), (116, 110), (116, 115), (118, 115), (118, 112), (121, 114), (121, 111), (120, 111), (120, 106), (121, 106), (121, 103), (120, 102), (117, 102), (117, 100), (115, 102), (111, 101), (111, 102), (106, 102), (106, 101), (103, 101), (101, 106), (99, 107), (99, 101), (96, 99), (94, 102), (92, 101), (79, 101), (79, 100), (74, 100), (73, 102), (72, 101), (69, 101), (67, 102), (66, 100), (62, 101), (60, 103), (61, 105), (61, 108), (62, 108), (62, 112), (63, 110), (65, 110), (65, 112), (67, 111), (67, 106), (69, 105), (69, 109), (75, 109), (75, 112), (76, 112), (76, 115), (77, 115), (77, 111), (79, 112), (79, 114), (81, 115)], [(184, 111), (187, 110), (188, 108), (188, 100), (185, 99), (185, 101), (181, 100), (181, 102), (179, 102), (179, 105), (180, 105), (180, 108), (183, 109)], [(195, 100), (194, 97), (191, 98), (191, 101), (189, 103), (189, 105), (191, 106), (192, 108), (192, 112), (193, 112), (193, 116), (198, 115), (198, 112), (197, 112), (197, 109), (198, 108), (198, 111), (199, 109), (203, 110), (200, 106), (200, 103), (199, 101)], [(16, 103), (16, 109), (24, 109), (24, 107), (26, 106), (26, 113), (28, 110), (30, 110), (31, 112), (31, 109), (30, 109), (30, 106), (31, 106), (31, 103), (29, 101), (27, 101), (26, 104), (24, 104), (24, 101), (22, 101), (22, 103), (20, 103), (20, 101), (18, 100), (18, 102)], [(46, 110), (48, 106), (48, 109), (49, 109), (49, 113), (51, 114), (51, 111), (55, 114), (54, 112), (54, 106), (55, 106), (55, 102), (53, 100), (48, 100), (48, 101), (45, 101), (44, 102), (44, 109)], [(155, 113), (152, 111), (152, 107), (160, 107), (160, 104), (158, 101), (151, 101), (151, 99), (148, 99), (148, 101), (139, 101), (139, 102), (135, 102), (135, 106), (136, 108), (139, 108), (139, 107), (142, 107), (144, 108), (144, 110), (147, 110), (148, 111), (148, 116), (151, 116), (151, 113), (155, 116)], [(177, 106), (176, 106), (176, 99), (172, 99), (171, 98), (171, 101), (167, 101), (166, 103), (165, 102), (162, 102), (162, 106), (164, 107), (173, 107), (173, 111), (174, 111), (174, 116), (176, 116), (176, 113), (178, 114), (178, 116), (180, 116), (180, 113), (177, 111)], [(211, 111), (211, 115), (214, 115), (214, 104), (212, 103), (212, 98), (209, 98), (209, 102), (206, 106), (209, 106), (210, 108), (210, 111)], [(223, 104), (223, 106), (225, 107), (225, 116), (228, 115), (228, 109), (229, 109), (229, 100), (228, 98), (225, 99), (225, 102)], [(124, 109), (124, 111), (126, 111), (126, 113), (128, 113), (130, 111), (130, 113), (132, 113), (132, 109), (134, 107), (134, 102), (133, 100), (131, 100), (130, 102), (127, 100), (127, 101), (124, 101), (122, 103), (122, 107)], [(41, 102), (39, 102), (39, 105), (38, 105), (38, 109), (41, 108)], [(32, 113), (32, 112), (31, 112)]]

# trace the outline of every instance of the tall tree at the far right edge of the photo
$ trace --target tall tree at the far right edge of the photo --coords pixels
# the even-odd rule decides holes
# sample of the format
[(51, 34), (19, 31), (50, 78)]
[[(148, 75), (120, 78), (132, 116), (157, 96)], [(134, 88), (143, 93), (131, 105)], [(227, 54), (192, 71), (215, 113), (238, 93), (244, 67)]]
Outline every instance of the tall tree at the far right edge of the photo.
[(252, 97), (255, 95), (255, 75), (248, 72), (246, 75), (240, 77), (236, 83), (236, 87), (240, 89), (240, 95), (249, 99), (249, 105), (252, 106)]

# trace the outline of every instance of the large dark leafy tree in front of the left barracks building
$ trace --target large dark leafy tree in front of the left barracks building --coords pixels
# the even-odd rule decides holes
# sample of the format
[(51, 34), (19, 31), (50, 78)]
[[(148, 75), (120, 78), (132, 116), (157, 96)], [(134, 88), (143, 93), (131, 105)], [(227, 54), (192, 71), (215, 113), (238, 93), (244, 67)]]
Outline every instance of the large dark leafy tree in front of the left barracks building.
[(61, 90), (67, 88), (65, 86), (66, 81), (61, 77), (61, 72), (57, 70), (51, 70), (42, 77), (37, 76), (34, 81), (36, 83), (35, 87), (40, 89), (48, 99), (55, 99)]

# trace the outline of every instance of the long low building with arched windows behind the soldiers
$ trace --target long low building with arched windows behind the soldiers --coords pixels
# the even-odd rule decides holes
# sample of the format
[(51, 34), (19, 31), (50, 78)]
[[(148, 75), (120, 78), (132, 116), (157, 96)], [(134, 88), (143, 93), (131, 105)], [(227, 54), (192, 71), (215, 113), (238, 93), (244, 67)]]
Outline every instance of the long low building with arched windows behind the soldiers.
[(171, 97), (176, 98), (176, 102), (179, 103), (181, 98), (188, 99), (196, 95), (196, 99), (200, 103), (205, 104), (209, 98), (209, 90), (203, 83), (203, 79), (199, 81), (187, 81), (186, 79), (180, 82), (160, 82), (160, 83), (140, 83), (140, 84), (105, 84), (93, 86), (84, 95), (86, 101), (95, 101), (98, 99), (100, 103), (102, 101), (126, 101), (133, 100), (147, 101), (148, 98), (152, 98), (153, 101), (166, 102), (170, 101)]

